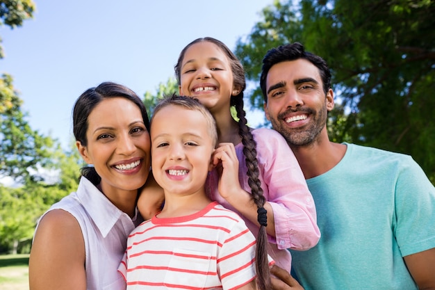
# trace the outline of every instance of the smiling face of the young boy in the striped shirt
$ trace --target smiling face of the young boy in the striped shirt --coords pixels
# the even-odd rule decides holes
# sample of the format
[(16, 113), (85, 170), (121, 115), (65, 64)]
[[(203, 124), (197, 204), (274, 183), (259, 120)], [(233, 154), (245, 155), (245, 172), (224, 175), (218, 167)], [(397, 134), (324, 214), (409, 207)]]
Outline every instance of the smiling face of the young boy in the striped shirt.
[(204, 115), (170, 105), (153, 118), (151, 167), (156, 182), (165, 194), (204, 193), (214, 150)]

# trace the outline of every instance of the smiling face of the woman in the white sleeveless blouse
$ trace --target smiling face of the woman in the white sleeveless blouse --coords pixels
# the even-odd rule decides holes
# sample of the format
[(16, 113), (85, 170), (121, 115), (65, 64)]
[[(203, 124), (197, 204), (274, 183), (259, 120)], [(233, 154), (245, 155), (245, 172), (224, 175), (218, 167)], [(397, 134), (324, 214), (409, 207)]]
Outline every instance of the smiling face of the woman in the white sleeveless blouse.
[(104, 99), (88, 116), (86, 137), (88, 145), (77, 141), (77, 147), (85, 162), (95, 167), (108, 198), (145, 184), (151, 141), (136, 104), (123, 97)]

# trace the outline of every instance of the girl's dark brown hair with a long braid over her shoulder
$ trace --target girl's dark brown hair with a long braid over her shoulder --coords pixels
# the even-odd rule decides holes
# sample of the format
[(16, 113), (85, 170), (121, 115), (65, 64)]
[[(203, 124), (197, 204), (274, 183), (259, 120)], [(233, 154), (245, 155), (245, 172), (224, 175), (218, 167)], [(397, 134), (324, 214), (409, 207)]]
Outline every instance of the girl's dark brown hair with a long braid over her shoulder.
[[(256, 159), (256, 142), (254, 136), (252, 136), (249, 127), (247, 127), (247, 120), (245, 118), (245, 110), (243, 109), (243, 91), (246, 88), (245, 81), (245, 70), (243, 70), (243, 65), (240, 63), (238, 58), (233, 54), (233, 52), (224, 45), (223, 42), (215, 38), (198, 38), (190, 42), (181, 51), (177, 64), (174, 66), (175, 76), (179, 85), (181, 85), (181, 65), (183, 63), (184, 55), (189, 47), (195, 45), (198, 42), (211, 42), (217, 47), (220, 47), (224, 54), (227, 55), (229, 63), (231, 65), (231, 71), (233, 72), (233, 86), (239, 90), (238, 95), (231, 96), (230, 105), (235, 106), (237, 112), (238, 120), (238, 134), (242, 138), (243, 143), (243, 154), (245, 155), (245, 161), (247, 166), (247, 176), (248, 184), (251, 188), (252, 198), (258, 207), (258, 220), (260, 223), (260, 229), (258, 230), (258, 236), (256, 241), (256, 273), (257, 273), (257, 284), (260, 290), (271, 289), (270, 283), (270, 271), (268, 262), (268, 252), (267, 243), (268, 236), (266, 233), (265, 226), (267, 225), (267, 220), (265, 216), (265, 198), (263, 196), (263, 188), (261, 188), (261, 180), (258, 178), (258, 162)], [(260, 222), (261, 220), (261, 222)]]

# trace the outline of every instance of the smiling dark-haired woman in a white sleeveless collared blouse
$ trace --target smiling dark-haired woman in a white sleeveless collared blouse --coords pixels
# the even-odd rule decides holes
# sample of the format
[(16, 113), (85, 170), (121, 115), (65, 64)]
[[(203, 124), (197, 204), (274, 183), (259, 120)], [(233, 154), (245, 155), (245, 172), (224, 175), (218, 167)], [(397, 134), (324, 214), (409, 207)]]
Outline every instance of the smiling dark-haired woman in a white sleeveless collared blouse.
[(129, 88), (101, 83), (77, 99), (73, 124), (79, 153), (93, 166), (82, 168), (75, 193), (40, 218), (30, 289), (125, 289), (117, 267), (142, 221), (136, 200), (151, 164), (147, 111)]

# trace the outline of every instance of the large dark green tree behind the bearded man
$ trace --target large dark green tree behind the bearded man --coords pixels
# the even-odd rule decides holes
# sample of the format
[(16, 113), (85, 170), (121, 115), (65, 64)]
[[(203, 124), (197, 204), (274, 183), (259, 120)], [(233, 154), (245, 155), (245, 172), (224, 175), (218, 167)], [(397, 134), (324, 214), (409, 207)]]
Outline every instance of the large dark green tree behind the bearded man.
[[(302, 42), (331, 67), (345, 113), (337, 136), (410, 154), (435, 183), (434, 1), (292, 2), (265, 8), (264, 19), (238, 40), (247, 77), (258, 83), (268, 49)], [(258, 89), (251, 102), (262, 106)]]

